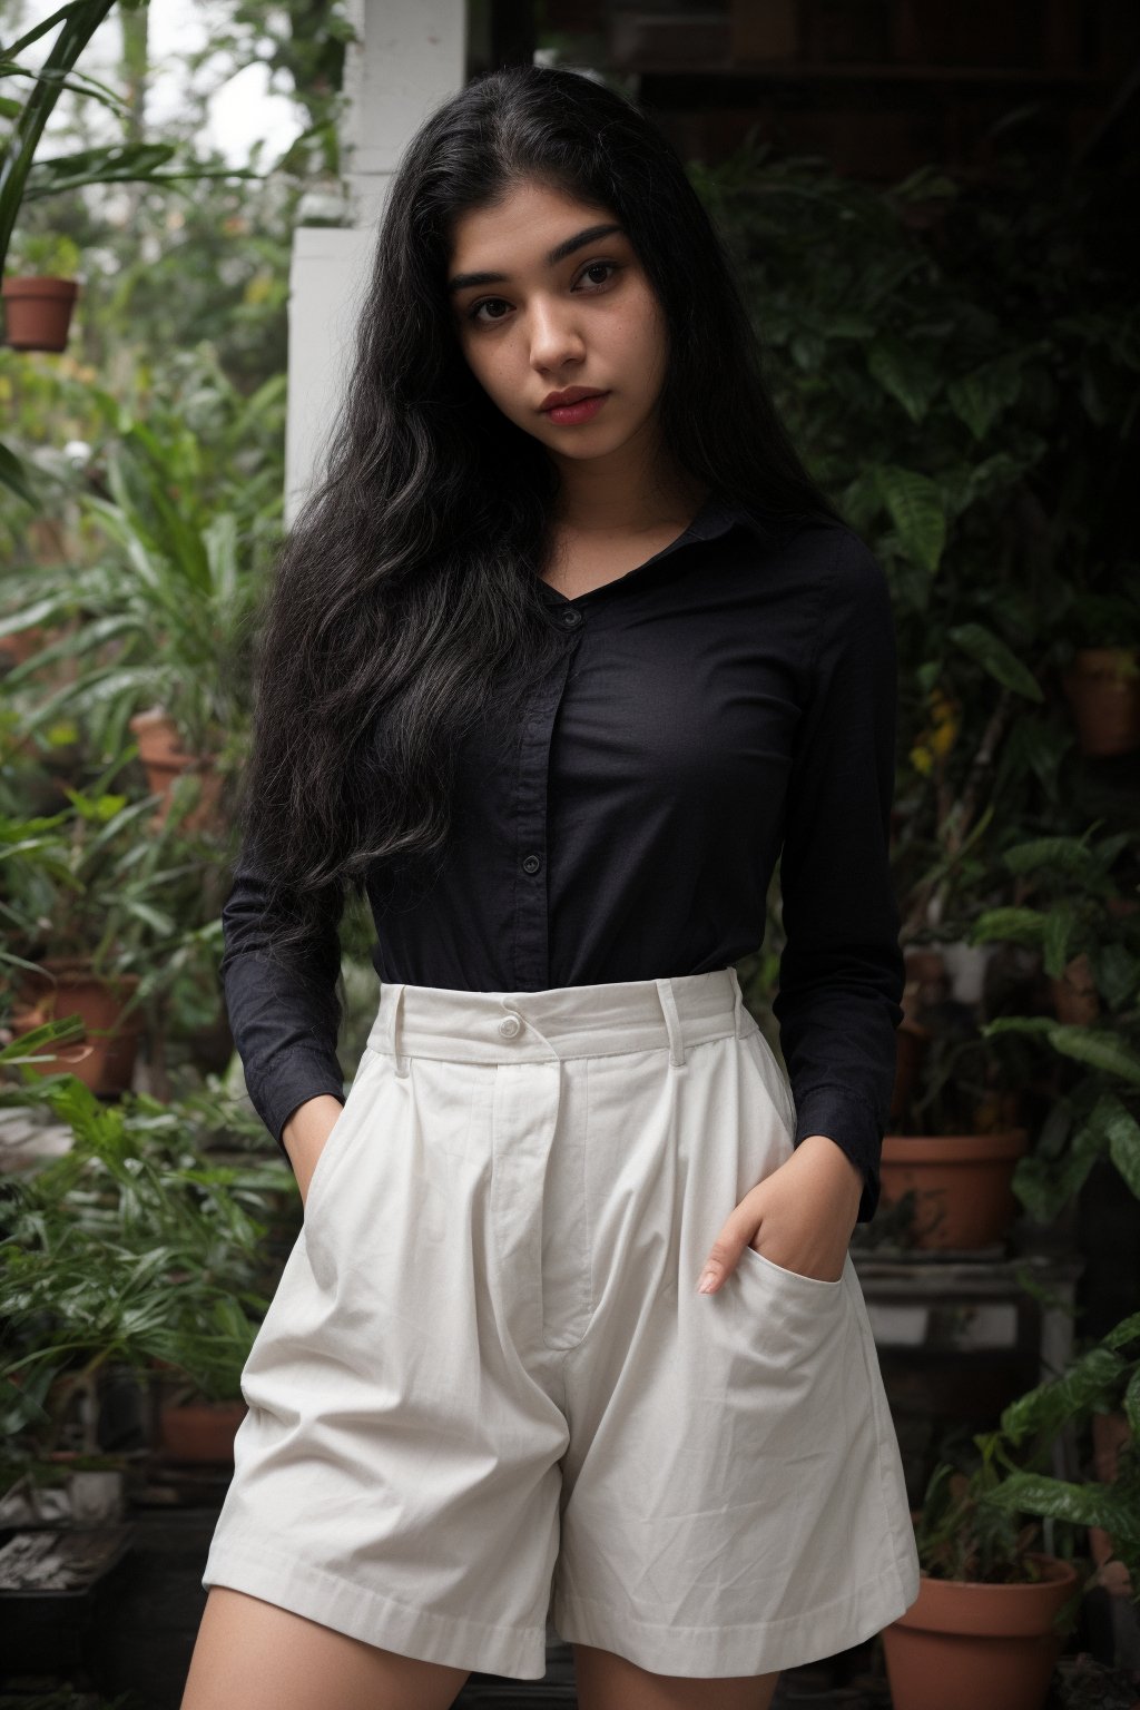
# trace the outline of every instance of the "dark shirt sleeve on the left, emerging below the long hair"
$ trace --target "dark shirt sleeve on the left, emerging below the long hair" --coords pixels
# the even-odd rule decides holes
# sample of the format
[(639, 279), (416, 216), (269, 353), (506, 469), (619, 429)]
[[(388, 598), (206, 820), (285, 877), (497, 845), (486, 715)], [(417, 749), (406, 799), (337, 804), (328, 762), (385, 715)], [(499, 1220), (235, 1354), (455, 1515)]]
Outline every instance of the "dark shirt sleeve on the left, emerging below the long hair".
[(222, 908), (219, 978), (246, 1091), (282, 1156), (282, 1129), (297, 1105), (320, 1093), (344, 1100), (337, 1057), (340, 1029), (340, 915), (344, 894), (325, 893), (316, 930), (304, 944), (273, 954), (268, 886), (246, 846)]

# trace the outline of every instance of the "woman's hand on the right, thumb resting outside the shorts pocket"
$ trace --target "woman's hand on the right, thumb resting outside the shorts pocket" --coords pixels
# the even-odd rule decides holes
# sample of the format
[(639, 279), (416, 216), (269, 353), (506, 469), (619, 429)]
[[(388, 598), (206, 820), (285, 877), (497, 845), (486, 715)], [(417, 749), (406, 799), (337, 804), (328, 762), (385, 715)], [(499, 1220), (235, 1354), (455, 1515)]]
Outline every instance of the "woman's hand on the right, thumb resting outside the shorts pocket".
[(826, 1134), (807, 1134), (791, 1158), (732, 1211), (697, 1284), (714, 1294), (745, 1247), (802, 1276), (837, 1282), (860, 1211), (863, 1171)]

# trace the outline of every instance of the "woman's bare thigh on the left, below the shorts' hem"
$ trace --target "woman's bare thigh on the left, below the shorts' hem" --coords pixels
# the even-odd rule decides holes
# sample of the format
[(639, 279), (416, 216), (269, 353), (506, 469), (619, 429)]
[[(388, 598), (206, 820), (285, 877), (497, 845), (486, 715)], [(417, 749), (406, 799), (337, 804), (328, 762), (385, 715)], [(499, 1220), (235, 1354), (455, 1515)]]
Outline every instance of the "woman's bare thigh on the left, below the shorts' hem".
[(448, 1710), (468, 1674), (214, 1585), (181, 1710)]

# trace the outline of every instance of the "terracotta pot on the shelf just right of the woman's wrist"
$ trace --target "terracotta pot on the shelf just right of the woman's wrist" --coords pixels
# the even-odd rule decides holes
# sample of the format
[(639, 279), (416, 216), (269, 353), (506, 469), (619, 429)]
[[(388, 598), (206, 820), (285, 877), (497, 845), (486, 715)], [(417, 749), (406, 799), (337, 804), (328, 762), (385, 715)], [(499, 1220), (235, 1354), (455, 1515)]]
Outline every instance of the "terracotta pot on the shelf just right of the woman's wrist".
[(884, 1209), (914, 1192), (914, 1247), (978, 1248), (1003, 1241), (1019, 1211), (1012, 1188), (1025, 1129), (996, 1134), (887, 1134), (882, 1142)]

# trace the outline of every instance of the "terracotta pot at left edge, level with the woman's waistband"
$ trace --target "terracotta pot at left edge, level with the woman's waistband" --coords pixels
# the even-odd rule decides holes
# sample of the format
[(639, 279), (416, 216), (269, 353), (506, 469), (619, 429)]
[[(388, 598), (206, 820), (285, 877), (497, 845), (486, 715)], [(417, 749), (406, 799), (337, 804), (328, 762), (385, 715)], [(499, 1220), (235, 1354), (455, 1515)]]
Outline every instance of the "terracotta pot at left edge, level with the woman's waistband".
[(24, 973), (17, 1007), (10, 1016), (14, 1038), (62, 1016), (80, 1016), (84, 1038), (55, 1045), (43, 1062), (31, 1064), (36, 1074), (70, 1072), (92, 1093), (125, 1093), (135, 1077), (135, 1057), (142, 1019), (123, 1007), (138, 987), (138, 975), (104, 978), (75, 958), (44, 956), (43, 975)]

